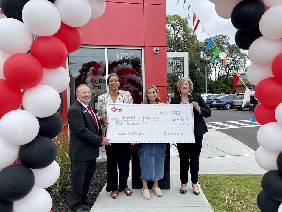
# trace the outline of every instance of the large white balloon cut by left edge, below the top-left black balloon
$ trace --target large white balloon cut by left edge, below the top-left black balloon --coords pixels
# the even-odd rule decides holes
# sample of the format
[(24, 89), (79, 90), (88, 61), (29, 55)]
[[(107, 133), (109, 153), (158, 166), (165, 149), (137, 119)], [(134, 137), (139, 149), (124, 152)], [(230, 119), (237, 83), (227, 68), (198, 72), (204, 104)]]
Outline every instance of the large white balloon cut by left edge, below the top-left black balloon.
[(0, 19), (0, 51), (2, 53), (7, 55), (27, 53), (32, 41), (32, 34), (23, 22), (12, 18)]

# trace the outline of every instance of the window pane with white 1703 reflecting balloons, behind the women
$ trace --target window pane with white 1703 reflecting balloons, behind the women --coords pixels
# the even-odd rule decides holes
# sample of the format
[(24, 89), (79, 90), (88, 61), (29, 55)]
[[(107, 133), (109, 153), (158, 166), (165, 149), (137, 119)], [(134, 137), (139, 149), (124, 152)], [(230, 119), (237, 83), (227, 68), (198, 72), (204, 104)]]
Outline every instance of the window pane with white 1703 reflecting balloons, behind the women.
[(133, 102), (142, 102), (142, 50), (108, 49), (108, 74), (120, 79), (119, 90), (130, 91)]

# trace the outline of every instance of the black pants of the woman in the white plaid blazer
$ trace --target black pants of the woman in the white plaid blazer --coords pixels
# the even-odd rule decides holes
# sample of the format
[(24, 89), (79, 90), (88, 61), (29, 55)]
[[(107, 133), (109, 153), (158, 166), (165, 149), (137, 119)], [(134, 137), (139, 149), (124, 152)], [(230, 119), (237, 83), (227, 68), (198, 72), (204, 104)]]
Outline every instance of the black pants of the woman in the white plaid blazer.
[[(127, 186), (131, 144), (112, 144), (105, 146), (107, 154), (107, 191), (123, 191)], [(119, 167), (119, 186), (118, 170)]]

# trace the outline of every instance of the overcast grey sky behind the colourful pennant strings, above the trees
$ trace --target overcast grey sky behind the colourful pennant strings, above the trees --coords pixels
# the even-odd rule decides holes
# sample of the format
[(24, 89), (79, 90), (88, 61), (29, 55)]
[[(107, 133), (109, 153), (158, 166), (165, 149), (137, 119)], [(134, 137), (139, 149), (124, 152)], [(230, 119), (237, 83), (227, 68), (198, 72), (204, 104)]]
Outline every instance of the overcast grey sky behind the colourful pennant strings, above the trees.
[[(186, 0), (185, 3), (185, 12), (183, 9), (183, 3), (184, 0), (181, 0), (177, 6), (176, 6), (177, 0), (166, 0), (166, 13), (171, 15), (180, 15), (183, 18), (187, 17), (187, 11), (188, 11), (188, 5), (191, 5), (191, 8), (189, 10), (190, 17), (192, 21), (190, 22), (189, 19), (189, 25), (192, 27), (193, 23), (193, 9), (196, 13), (196, 15), (199, 17), (202, 24), (205, 26), (206, 30), (211, 36), (215, 36), (218, 34), (224, 34), (230, 36), (230, 43), (235, 44), (234, 36), (236, 33), (236, 29), (231, 24), (230, 19), (223, 19), (219, 17), (214, 9), (214, 4), (211, 3), (208, 0)], [(197, 19), (196, 19), (197, 20)], [(201, 34), (202, 34), (202, 25), (199, 24), (196, 35), (198, 39), (200, 40)], [(208, 38), (208, 35), (206, 32), (204, 32), (202, 39), (204, 40)], [(244, 51), (247, 53), (247, 51)]]

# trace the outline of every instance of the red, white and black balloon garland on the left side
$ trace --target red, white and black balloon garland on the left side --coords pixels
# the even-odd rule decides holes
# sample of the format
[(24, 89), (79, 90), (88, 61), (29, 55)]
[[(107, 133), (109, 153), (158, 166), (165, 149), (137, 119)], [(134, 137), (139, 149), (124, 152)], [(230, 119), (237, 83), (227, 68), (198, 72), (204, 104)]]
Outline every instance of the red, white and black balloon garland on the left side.
[[(0, 211), (52, 211), (44, 188), (60, 175), (52, 138), (63, 127), (59, 93), (70, 82), (62, 66), (82, 44), (79, 27), (105, 6), (105, 0), (0, 0)], [(13, 164), (17, 158), (21, 164)]]

